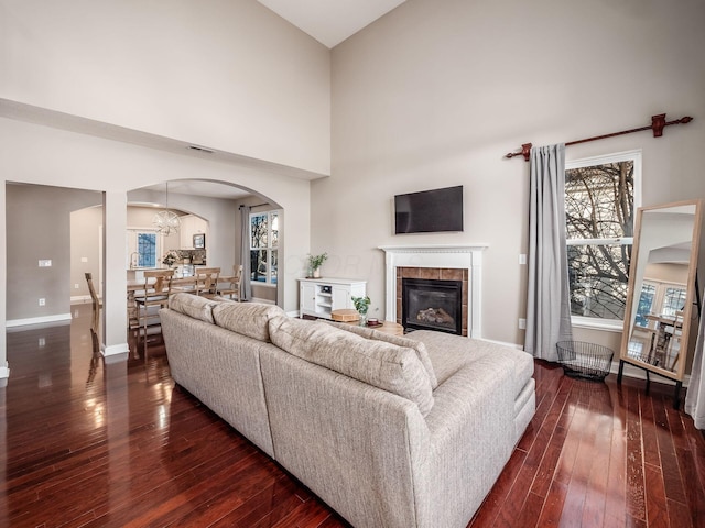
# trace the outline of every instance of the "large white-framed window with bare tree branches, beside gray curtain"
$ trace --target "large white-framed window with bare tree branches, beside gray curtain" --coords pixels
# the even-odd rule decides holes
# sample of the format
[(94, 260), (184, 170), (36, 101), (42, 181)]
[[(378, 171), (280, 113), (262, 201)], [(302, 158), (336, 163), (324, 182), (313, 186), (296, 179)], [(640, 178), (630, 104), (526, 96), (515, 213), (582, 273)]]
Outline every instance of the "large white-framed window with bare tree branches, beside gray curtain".
[(640, 152), (566, 163), (568, 280), (576, 323), (621, 328), (640, 180)]

